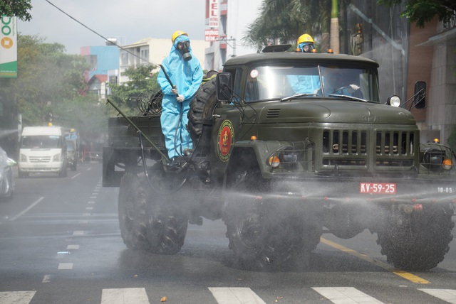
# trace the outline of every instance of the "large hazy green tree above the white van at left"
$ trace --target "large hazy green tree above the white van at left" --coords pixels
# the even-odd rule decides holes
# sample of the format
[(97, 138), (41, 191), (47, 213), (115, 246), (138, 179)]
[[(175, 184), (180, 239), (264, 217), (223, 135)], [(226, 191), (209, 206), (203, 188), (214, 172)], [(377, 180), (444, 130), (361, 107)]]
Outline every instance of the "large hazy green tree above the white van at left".
[(86, 59), (64, 52), (61, 44), (18, 35), (18, 78), (1, 78), (0, 95), (22, 114), (24, 125), (47, 124), (58, 103), (86, 89)]

